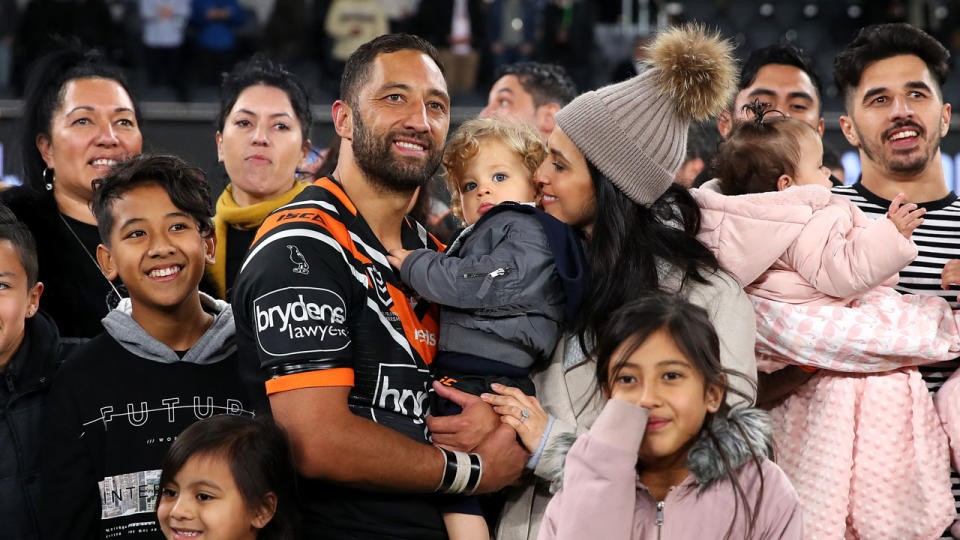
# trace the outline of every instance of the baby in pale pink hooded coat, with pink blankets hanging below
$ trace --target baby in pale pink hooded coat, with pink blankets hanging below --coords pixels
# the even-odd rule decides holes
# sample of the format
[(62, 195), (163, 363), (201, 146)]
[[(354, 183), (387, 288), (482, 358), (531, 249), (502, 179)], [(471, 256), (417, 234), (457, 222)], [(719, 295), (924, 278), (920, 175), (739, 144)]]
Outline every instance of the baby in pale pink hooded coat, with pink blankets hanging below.
[(804, 536), (938, 537), (955, 514), (957, 425), (941, 426), (912, 366), (960, 356), (960, 328), (943, 299), (889, 288), (917, 255), (923, 210), (899, 196), (889, 219), (867, 218), (831, 195), (810, 126), (754, 112), (721, 144), (718, 180), (692, 194), (698, 238), (754, 303), (758, 367), (820, 369), (771, 411)]

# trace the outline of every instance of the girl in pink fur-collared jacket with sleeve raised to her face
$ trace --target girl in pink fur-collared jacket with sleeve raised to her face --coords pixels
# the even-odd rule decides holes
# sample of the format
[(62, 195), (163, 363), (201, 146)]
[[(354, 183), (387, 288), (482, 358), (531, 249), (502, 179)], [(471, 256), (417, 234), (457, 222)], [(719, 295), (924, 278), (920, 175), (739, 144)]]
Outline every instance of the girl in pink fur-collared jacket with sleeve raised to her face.
[(767, 459), (766, 414), (724, 401), (702, 308), (668, 295), (627, 304), (597, 346), (610, 400), (567, 454), (539, 538), (801, 537), (797, 494)]

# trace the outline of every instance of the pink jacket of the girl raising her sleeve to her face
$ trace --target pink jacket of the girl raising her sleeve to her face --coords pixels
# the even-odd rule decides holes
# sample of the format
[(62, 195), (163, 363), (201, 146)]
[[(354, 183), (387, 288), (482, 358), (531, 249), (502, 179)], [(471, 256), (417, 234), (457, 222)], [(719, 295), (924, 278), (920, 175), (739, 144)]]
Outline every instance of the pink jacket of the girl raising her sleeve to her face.
[[(580, 436), (567, 454), (563, 488), (547, 506), (540, 540), (719, 540), (734, 516), (730, 538), (746, 537), (746, 511), (742, 502), (738, 506), (729, 480), (698, 485), (691, 473), (659, 504), (640, 483), (637, 452), (648, 414), (647, 409), (626, 401), (607, 402), (590, 431)], [(736, 430), (730, 433), (736, 436)], [(719, 454), (715, 458), (720, 459)], [(705, 461), (711, 459), (707, 456)], [(714, 469), (717, 466), (712, 464)], [(760, 470), (763, 494), (750, 539), (799, 540), (803, 524), (793, 486), (772, 461), (763, 459)], [(748, 459), (740, 466), (737, 480), (754, 504), (761, 477), (753, 461)]]

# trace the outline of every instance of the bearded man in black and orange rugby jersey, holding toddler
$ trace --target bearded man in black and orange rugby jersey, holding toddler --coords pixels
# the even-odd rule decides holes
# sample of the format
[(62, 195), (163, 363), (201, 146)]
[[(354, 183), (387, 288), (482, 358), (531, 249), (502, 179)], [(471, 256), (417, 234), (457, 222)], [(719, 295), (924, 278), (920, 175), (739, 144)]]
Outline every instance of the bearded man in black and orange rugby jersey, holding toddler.
[[(238, 340), (290, 436), (305, 538), (445, 538), (429, 494), (474, 487), (473, 457), (430, 444), (437, 310), (385, 256), (438, 248), (405, 213), (443, 153), (447, 85), (431, 45), (387, 35), (350, 57), (340, 91), (337, 168), (258, 231), (235, 286)], [(489, 433), (470, 445), (477, 491), (516, 480), (528, 456), (515, 433), (479, 398), (463, 405)]]

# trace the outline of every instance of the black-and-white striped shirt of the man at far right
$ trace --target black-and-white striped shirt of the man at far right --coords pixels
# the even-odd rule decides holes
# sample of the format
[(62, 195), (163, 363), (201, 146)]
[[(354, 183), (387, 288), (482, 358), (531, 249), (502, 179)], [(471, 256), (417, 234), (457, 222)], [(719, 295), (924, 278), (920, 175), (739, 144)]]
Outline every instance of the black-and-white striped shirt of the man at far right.
[[(874, 219), (885, 218), (890, 208), (890, 201), (874, 195), (859, 181), (849, 186), (835, 187), (833, 192), (849, 197), (864, 214)], [(911, 237), (919, 254), (900, 271), (900, 282), (895, 289), (902, 294), (940, 296), (949, 302), (951, 308), (957, 310), (960, 287), (954, 285), (946, 291), (941, 289), (940, 274), (947, 261), (960, 259), (960, 199), (951, 191), (942, 199), (917, 203), (917, 206), (927, 210), (923, 216), (923, 224), (913, 231)], [(958, 367), (960, 359), (942, 362), (937, 366), (919, 366), (920, 375), (931, 396)], [(953, 484), (953, 498), (960, 511), (960, 475), (952, 467), (950, 480)]]

